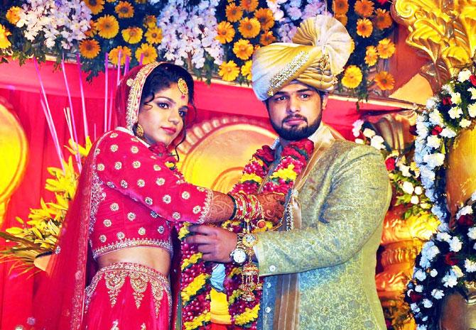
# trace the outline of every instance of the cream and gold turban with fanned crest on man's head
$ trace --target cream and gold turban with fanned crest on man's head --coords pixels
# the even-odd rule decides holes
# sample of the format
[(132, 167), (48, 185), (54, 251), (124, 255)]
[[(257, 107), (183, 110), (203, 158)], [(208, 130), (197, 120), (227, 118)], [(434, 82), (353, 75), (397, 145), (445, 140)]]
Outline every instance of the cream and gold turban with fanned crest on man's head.
[(306, 19), (293, 43), (272, 43), (254, 53), (251, 74), (256, 97), (264, 101), (292, 80), (332, 91), (335, 76), (349, 59), (351, 43), (337, 19), (324, 15)]

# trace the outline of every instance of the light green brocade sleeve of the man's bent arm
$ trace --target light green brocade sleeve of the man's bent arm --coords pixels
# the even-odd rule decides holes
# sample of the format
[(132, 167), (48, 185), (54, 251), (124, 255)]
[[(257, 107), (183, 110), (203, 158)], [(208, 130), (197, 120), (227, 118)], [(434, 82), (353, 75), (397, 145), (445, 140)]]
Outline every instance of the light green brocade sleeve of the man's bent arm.
[(336, 167), (330, 189), (315, 197), (323, 207), (303, 211), (301, 229), (258, 234), (260, 275), (332, 267), (350, 260), (367, 241), (379, 241), (373, 236), (380, 233), (391, 191), (382, 156), (368, 151), (351, 151)]

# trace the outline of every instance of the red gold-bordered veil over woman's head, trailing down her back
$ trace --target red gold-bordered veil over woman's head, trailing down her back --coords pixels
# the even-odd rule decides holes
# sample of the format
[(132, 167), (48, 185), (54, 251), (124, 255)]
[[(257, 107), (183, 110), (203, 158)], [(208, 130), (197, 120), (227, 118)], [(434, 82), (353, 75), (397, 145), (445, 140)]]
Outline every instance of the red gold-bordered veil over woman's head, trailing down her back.
[[(137, 122), (146, 78), (160, 64), (153, 62), (134, 67), (122, 78), (116, 92), (118, 126), (132, 131)], [(92, 254), (88, 251), (90, 215), (94, 203), (92, 192), (95, 185), (99, 184), (94, 180), (93, 171), (96, 145), (97, 141), (82, 167), (75, 198), (70, 203), (58, 245), (48, 263), (48, 279), (38, 287), (33, 298), (33, 329), (81, 329), (88, 272), (96, 268)], [(93, 275), (95, 271), (90, 273)]]

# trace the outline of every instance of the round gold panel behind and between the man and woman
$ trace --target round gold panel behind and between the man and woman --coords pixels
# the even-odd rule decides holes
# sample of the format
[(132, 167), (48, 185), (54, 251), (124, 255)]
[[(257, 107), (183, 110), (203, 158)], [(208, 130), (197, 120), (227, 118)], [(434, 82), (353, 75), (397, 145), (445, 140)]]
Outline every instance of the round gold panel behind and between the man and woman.
[(276, 133), (262, 123), (239, 117), (212, 119), (195, 125), (179, 146), (180, 171), (194, 185), (229, 192), (244, 165), (261, 145), (271, 145)]

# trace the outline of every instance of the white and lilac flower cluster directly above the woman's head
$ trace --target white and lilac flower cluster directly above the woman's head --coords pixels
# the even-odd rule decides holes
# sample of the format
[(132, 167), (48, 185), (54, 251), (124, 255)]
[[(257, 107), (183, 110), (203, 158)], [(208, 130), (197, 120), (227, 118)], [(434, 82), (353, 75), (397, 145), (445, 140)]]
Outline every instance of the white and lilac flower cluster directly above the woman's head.
[(163, 39), (158, 50), (165, 50), (164, 57), (176, 65), (192, 65), (189, 70), (200, 70), (207, 58), (211, 65), (222, 64), (223, 48), (217, 40), (218, 0), (202, 0), (189, 9), (184, 1), (172, 0), (158, 18)]

